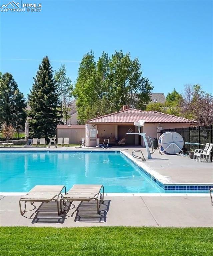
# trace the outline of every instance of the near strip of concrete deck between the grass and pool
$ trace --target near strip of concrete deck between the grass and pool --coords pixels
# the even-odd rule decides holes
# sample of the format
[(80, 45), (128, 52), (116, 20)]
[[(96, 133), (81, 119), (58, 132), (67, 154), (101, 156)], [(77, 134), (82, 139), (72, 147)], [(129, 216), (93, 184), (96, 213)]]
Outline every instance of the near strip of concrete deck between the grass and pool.
[(27, 203), (29, 211), (21, 216), (19, 198), (0, 196), (0, 226), (213, 227), (209, 196), (106, 196), (100, 215), (96, 202), (91, 201), (74, 202), (75, 208), (72, 205), (61, 216), (57, 215), (55, 202), (35, 203), (36, 209)]

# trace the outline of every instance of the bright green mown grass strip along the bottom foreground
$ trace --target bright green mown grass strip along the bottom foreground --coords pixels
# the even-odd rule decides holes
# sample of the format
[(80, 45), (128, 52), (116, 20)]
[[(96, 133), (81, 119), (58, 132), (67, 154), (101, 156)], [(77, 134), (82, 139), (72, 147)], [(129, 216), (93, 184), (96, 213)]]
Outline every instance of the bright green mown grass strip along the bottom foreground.
[(213, 228), (0, 227), (0, 255), (213, 255)]

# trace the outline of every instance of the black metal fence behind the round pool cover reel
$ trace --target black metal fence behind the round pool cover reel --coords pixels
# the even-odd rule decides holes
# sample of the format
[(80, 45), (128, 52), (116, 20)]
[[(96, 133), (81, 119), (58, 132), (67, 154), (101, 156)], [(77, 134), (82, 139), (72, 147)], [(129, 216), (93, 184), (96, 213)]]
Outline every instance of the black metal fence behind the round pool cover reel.
[[(163, 134), (164, 132), (179, 133), (183, 137), (183, 140), (184, 140), (183, 151), (186, 153), (188, 153), (189, 151), (194, 151), (197, 148), (203, 149), (204, 146), (185, 144), (185, 142), (191, 142), (191, 143), (194, 142), (199, 144), (213, 143), (213, 125), (210, 125), (208, 127), (198, 126), (198, 127), (187, 127), (187, 128), (163, 129), (160, 131), (160, 134)], [(212, 154), (213, 154), (213, 150), (212, 150)]]

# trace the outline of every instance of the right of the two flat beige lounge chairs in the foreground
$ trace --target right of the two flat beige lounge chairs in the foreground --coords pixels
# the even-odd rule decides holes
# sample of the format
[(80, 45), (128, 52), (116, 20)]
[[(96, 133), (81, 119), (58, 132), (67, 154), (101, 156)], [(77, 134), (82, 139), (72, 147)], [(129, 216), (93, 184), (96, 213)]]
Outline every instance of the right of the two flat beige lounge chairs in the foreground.
[[(102, 193), (101, 193), (102, 189)], [(62, 211), (62, 201), (64, 203), (64, 211), (66, 201), (72, 204), (73, 201), (97, 201), (97, 213), (100, 214), (100, 205), (104, 200), (104, 186), (103, 185), (73, 185), (73, 187), (60, 199), (60, 206)], [(64, 212), (63, 211), (63, 212)]]

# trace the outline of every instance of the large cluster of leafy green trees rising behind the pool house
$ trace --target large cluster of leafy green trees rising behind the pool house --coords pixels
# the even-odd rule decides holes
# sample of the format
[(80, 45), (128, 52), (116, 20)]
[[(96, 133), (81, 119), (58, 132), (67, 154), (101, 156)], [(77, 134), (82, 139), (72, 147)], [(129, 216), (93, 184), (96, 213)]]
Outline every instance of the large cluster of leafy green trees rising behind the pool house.
[(95, 61), (94, 54), (84, 55), (74, 89), (78, 118), (90, 118), (121, 110), (122, 105), (144, 109), (153, 89), (148, 78), (142, 77), (138, 59), (115, 52), (111, 58), (103, 52)]

